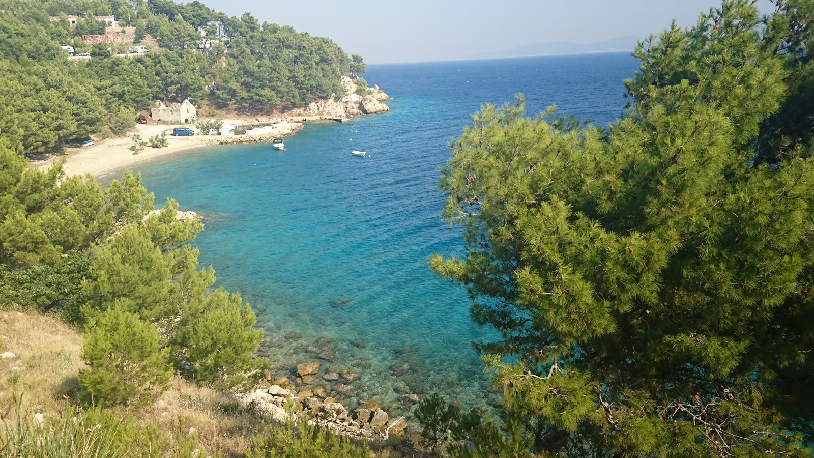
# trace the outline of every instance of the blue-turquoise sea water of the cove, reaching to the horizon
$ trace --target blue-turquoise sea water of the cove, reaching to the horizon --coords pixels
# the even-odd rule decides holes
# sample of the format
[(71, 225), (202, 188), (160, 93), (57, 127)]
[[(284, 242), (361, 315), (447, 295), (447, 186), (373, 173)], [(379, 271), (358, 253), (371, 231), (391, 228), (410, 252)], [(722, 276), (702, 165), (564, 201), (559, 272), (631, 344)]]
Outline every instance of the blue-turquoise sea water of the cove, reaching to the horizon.
[(287, 152), (205, 148), (135, 169), (157, 202), (172, 196), (204, 214), (202, 265), (252, 304), (275, 372), (317, 360), (332, 341), (336, 361), (323, 372), (361, 372), (360, 399), (404, 407), (406, 388), (481, 405), (488, 380), (470, 341), (491, 333), (471, 323), (466, 291), (427, 267), (431, 253), (462, 252), (460, 230), (439, 218), (449, 140), (482, 103), (519, 92), (532, 115), (557, 104), (606, 125), (636, 68), (627, 53), (370, 65), (367, 81), (394, 97), (387, 114), (309, 124)]

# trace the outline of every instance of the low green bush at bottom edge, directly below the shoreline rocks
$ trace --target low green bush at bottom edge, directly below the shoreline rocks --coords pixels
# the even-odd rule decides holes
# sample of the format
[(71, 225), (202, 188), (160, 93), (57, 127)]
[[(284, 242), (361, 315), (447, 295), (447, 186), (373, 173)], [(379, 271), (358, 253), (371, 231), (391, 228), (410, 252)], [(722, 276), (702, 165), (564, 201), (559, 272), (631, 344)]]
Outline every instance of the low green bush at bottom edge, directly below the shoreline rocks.
[(369, 458), (367, 444), (333, 434), (303, 421), (299, 425), (266, 425), (252, 441), (247, 458)]

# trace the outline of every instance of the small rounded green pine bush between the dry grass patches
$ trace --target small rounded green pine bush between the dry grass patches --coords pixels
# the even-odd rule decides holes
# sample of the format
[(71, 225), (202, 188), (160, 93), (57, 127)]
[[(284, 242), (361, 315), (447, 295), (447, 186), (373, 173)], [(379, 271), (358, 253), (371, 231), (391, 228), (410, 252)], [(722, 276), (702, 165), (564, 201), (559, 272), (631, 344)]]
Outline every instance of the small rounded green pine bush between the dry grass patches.
[(161, 349), (155, 327), (114, 306), (85, 330), (79, 372), (81, 397), (87, 404), (141, 406), (167, 390), (173, 377), (169, 349)]

